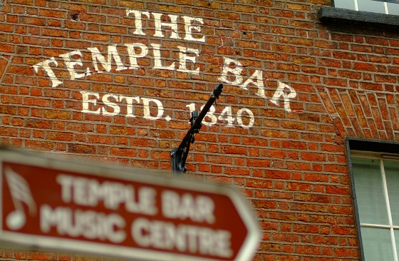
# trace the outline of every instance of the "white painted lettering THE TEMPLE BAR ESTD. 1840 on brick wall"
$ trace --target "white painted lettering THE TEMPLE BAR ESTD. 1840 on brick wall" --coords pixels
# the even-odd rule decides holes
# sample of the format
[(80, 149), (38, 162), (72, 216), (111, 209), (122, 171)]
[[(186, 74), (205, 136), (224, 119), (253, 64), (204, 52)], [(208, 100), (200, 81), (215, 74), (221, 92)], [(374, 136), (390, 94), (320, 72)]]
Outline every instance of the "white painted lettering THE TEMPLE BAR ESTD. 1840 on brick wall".
[[(205, 42), (205, 36), (202, 35), (201, 31), (202, 26), (204, 25), (202, 18), (161, 14), (150, 11), (138, 11), (134, 9), (127, 9), (126, 15), (134, 16), (135, 31), (133, 34), (145, 36), (150, 30), (147, 32), (145, 30), (143, 31), (143, 26), (153, 24), (154, 28), (151, 31), (154, 31), (153, 36), (155, 37), (160, 37), (162, 39), (183, 39), (187, 42)], [(152, 18), (153, 21), (148, 21)], [(144, 19), (146, 20), (144, 21)], [(182, 23), (182, 21), (184, 21), (184, 32), (182, 31), (183, 24), (179, 24)], [(179, 31), (179, 29), (181, 31)], [(163, 42), (165, 41), (160, 41), (160, 43)], [(87, 62), (83, 61), (83, 57), (85, 57), (82, 55), (82, 53), (84, 53), (83, 51), (70, 51), (69, 53), (61, 54), (60, 57), (63, 58), (65, 67), (71, 76), (71, 80), (89, 76), (91, 73), (110, 72), (113, 64), (115, 65), (115, 71), (123, 71), (127, 69), (137, 70), (142, 68), (144, 64), (150, 64), (153, 69), (178, 71), (190, 73), (196, 76), (199, 75), (201, 66), (197, 64), (197, 60), (200, 56), (200, 47), (189, 48), (187, 47), (187, 44), (182, 44), (182, 46), (176, 46), (174, 50), (170, 50), (165, 46), (162, 46), (162, 44), (152, 43), (151, 41), (147, 45), (139, 42), (124, 44), (123, 47), (126, 49), (123, 51), (123, 55), (125, 56), (125, 53), (128, 53), (128, 58), (125, 58), (126, 60), (122, 60), (120, 54), (118, 53), (118, 48), (123, 47), (117, 48), (115, 44), (104, 47), (107, 48), (108, 55), (103, 55), (103, 53), (101, 53), (96, 47), (87, 48), (87, 51), (90, 51), (91, 53), (91, 62), (93, 63), (93, 66), (90, 68), (82, 68), (83, 64)], [(152, 50), (152, 53), (149, 51), (150, 49)], [(177, 51), (179, 52), (178, 54), (176, 53)], [(149, 59), (152, 59), (150, 63), (148, 63)], [(141, 66), (140, 61), (142, 62)], [(123, 62), (129, 64), (125, 66)], [(33, 65), (33, 68), (36, 73), (38, 73), (39, 68), (43, 68), (44, 73), (51, 80), (52, 87), (56, 87), (63, 83), (63, 81), (58, 80), (55, 73), (58, 71), (55, 71), (51, 65), (55, 65), (55, 67), (58, 66), (58, 63), (54, 57)], [(256, 93), (254, 93), (256, 96), (259, 96), (260, 98), (268, 98), (266, 97), (265, 93), (263, 71), (260, 69), (254, 69), (251, 74), (249, 73), (248, 68), (245, 68), (245, 71), (244, 68), (245, 66), (243, 66), (243, 64), (239, 61), (233, 58), (224, 57), (222, 72), (218, 79), (223, 83), (227, 83), (232, 86), (239, 86), (239, 88), (244, 90), (249, 90), (251, 87), (252, 89), (257, 88)], [(125, 106), (125, 116), (135, 118), (137, 117), (135, 115), (135, 108), (140, 106), (140, 101), (142, 101), (142, 110), (140, 110), (140, 112), (142, 111), (143, 118), (155, 121), (162, 118), (164, 113), (162, 103), (157, 99), (140, 98), (138, 96), (120, 96), (118, 94), (100, 94), (90, 91), (80, 92), (82, 94), (83, 103), (82, 113), (116, 116), (123, 111), (123, 108), (121, 107)], [(296, 98), (295, 89), (285, 83), (278, 82), (277, 89), (272, 97), (269, 98), (269, 101), (274, 103), (276, 106), (279, 106), (280, 101), (282, 101), (284, 110), (291, 112), (290, 101), (293, 98)], [(152, 103), (154, 103), (155, 106), (151, 107), (153, 105)], [(192, 104), (194, 103), (191, 103), (191, 105)], [(191, 105), (189, 107), (190, 111), (192, 111)], [(204, 125), (212, 126), (216, 124), (219, 119), (220, 121), (227, 123), (227, 126), (233, 127), (235, 118), (232, 116), (232, 113), (232, 108), (226, 107), (222, 113), (220, 113), (219, 117), (217, 117), (215, 116), (215, 109), (212, 106), (206, 115), (207, 119), (205, 119)], [(170, 116), (166, 116), (165, 120), (170, 121)], [(241, 108), (239, 111), (237, 111), (237, 123), (242, 128), (251, 128), (254, 126), (254, 113), (248, 108)]]

